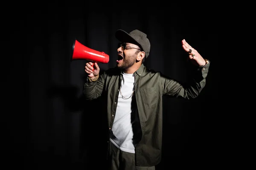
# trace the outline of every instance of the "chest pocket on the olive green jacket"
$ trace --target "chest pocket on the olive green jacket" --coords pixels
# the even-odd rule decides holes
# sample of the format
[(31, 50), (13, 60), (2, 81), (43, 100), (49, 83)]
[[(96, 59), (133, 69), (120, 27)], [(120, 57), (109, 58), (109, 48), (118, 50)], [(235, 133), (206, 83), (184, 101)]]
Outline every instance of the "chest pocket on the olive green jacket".
[(145, 88), (140, 90), (142, 96), (142, 102), (145, 108), (154, 108), (157, 104), (157, 90), (156, 88)]

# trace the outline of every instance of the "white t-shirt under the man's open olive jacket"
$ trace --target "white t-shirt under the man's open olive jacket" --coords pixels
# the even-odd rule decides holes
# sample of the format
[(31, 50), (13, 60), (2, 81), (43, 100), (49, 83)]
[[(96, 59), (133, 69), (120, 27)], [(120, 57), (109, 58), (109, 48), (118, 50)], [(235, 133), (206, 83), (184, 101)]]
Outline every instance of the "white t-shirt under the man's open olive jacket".
[(133, 93), (134, 74), (123, 73), (110, 140), (120, 150), (129, 153), (135, 153), (131, 122), (131, 95)]

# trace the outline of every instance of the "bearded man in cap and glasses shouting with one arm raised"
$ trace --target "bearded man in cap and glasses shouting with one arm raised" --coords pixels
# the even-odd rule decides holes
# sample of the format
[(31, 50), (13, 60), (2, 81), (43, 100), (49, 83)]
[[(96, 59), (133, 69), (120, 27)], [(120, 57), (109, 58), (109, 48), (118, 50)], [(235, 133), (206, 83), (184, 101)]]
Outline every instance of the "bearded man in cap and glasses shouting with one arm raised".
[[(86, 99), (105, 99), (108, 117), (108, 160), (111, 170), (154, 170), (162, 148), (162, 96), (193, 99), (204, 88), (209, 61), (185, 40), (182, 47), (193, 65), (186, 85), (147, 69), (150, 42), (139, 30), (117, 30), (121, 42), (116, 67), (99, 75), (99, 65), (87, 62)], [(94, 70), (93, 67), (94, 66)]]

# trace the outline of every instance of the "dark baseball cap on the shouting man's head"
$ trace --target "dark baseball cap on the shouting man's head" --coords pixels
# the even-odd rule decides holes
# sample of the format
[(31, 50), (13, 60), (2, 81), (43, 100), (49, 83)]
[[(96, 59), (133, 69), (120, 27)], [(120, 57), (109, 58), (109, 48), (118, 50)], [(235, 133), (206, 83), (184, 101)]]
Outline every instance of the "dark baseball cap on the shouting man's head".
[(145, 52), (145, 57), (147, 58), (150, 51), (150, 42), (147, 38), (147, 34), (135, 29), (129, 34), (122, 29), (118, 29), (115, 33), (117, 40), (121, 42), (132, 43), (140, 46), (142, 51)]

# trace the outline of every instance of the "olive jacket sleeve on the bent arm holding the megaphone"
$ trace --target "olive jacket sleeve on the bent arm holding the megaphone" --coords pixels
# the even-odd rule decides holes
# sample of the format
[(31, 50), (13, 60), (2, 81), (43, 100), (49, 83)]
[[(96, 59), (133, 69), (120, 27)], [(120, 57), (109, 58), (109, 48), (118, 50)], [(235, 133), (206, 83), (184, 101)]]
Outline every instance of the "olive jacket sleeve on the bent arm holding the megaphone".
[(104, 87), (104, 74), (99, 76), (95, 82), (90, 82), (88, 77), (86, 82), (84, 83), (84, 96), (87, 100), (96, 99), (101, 96), (103, 87)]

